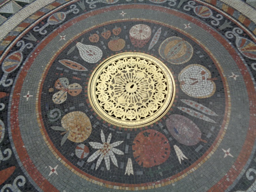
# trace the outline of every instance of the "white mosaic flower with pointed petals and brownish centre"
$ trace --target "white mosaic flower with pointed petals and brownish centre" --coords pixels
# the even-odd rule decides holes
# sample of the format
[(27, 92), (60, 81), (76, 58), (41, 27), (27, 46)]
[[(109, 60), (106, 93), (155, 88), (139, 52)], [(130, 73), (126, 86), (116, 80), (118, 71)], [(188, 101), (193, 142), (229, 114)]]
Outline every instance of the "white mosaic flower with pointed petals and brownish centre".
[(106, 142), (105, 141), (105, 135), (104, 135), (102, 130), (101, 130), (101, 133), (100, 133), (100, 137), (101, 137), (102, 143), (89, 142), (90, 146), (93, 149), (98, 149), (98, 151), (94, 152), (88, 158), (87, 162), (92, 162), (98, 156), (100, 156), (100, 158), (98, 159), (98, 161), (96, 163), (96, 169), (98, 169), (98, 167), (100, 166), (100, 163), (102, 162), (103, 158), (105, 160), (107, 170), (109, 170), (109, 168), (110, 168), (110, 158), (111, 158), (111, 161), (113, 162), (113, 164), (118, 167), (117, 158), (115, 157), (115, 154), (123, 155), (124, 152), (120, 151), (119, 149), (115, 149), (114, 147), (117, 147), (123, 141), (116, 141), (115, 143), (110, 144), (111, 137), (112, 137), (112, 135), (110, 133), (109, 136), (107, 137), (107, 142)]

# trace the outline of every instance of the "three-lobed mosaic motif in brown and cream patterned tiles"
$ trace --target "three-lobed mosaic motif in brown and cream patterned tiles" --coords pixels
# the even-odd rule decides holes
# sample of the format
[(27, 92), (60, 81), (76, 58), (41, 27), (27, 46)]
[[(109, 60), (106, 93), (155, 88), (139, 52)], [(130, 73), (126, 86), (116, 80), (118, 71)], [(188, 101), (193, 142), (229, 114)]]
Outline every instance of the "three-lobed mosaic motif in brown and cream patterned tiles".
[(62, 104), (67, 99), (67, 93), (71, 96), (77, 96), (81, 93), (82, 87), (78, 83), (69, 85), (67, 78), (59, 78), (55, 82), (55, 88), (59, 91), (53, 95), (53, 102), (55, 104)]

